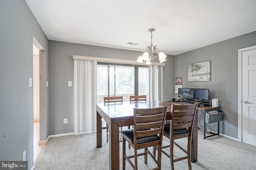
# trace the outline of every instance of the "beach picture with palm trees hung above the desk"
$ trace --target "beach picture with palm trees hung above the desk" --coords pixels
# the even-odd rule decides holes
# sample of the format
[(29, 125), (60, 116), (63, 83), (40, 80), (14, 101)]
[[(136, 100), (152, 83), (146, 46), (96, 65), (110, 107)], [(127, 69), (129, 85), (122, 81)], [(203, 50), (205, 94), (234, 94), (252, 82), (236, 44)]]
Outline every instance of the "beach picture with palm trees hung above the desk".
[(188, 81), (210, 81), (211, 80), (210, 61), (188, 64)]

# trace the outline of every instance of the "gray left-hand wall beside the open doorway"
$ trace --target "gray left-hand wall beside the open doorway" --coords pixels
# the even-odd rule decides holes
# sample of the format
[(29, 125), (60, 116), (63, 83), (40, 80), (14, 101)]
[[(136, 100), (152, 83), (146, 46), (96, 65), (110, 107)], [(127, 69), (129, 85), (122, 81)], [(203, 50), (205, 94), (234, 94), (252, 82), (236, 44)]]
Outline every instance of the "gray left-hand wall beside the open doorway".
[(0, 160), (22, 160), (26, 150), (31, 169), (33, 36), (46, 50), (46, 63), (48, 39), (25, 0), (0, 0), (0, 23)]

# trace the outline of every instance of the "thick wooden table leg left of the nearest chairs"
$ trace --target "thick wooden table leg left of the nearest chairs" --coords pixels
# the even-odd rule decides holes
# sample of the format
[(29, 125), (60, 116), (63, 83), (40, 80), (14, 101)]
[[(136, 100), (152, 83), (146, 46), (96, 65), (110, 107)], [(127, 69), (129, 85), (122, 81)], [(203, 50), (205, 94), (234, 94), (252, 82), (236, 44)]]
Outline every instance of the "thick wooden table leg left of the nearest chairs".
[(109, 127), (109, 169), (119, 170), (119, 127), (110, 121)]

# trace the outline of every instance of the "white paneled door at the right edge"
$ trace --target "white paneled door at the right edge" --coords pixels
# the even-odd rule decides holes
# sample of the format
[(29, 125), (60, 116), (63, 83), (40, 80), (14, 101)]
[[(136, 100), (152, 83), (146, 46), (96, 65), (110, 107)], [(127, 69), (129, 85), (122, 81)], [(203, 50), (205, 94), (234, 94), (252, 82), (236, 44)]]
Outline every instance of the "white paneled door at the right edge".
[(256, 46), (238, 50), (238, 141), (256, 146)]

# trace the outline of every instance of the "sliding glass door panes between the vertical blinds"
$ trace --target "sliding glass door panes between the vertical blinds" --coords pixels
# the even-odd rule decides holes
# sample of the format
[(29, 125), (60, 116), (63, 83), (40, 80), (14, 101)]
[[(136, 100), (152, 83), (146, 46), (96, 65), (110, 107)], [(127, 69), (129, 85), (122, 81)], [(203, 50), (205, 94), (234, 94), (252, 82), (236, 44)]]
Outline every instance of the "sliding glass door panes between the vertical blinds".
[(148, 66), (98, 63), (97, 102), (103, 103), (104, 96), (123, 96), (127, 102), (130, 95), (148, 95), (148, 70)]

